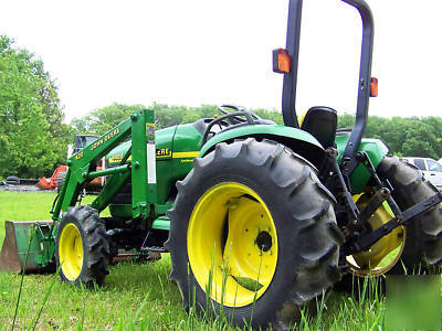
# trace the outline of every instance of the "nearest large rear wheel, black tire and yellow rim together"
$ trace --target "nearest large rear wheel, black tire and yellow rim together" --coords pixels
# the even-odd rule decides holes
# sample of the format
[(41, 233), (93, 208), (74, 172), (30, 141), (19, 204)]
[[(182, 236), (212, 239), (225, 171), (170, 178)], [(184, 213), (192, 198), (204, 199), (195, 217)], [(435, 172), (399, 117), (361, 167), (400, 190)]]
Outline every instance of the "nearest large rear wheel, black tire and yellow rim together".
[(185, 308), (287, 325), (339, 278), (334, 197), (284, 146), (220, 143), (177, 188), (166, 246)]

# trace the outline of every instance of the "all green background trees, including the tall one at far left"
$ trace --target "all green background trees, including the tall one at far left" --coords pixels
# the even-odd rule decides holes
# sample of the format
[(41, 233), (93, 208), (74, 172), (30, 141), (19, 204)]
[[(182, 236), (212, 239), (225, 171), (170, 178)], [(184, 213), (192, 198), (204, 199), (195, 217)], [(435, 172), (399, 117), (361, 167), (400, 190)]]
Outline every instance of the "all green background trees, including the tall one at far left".
[[(11, 39), (0, 35), (0, 177), (48, 177), (65, 163), (67, 143), (73, 142), (76, 134), (103, 135), (141, 108), (146, 106), (113, 104), (64, 124), (57, 86), (43, 62), (27, 50), (15, 49)], [(157, 129), (220, 115), (214, 105), (154, 104), (148, 108), (155, 110)], [(251, 110), (283, 125), (281, 111)], [(339, 128), (351, 128), (354, 122), (354, 115), (338, 116)], [(371, 116), (365, 137), (383, 140), (392, 154), (442, 157), (440, 117)]]

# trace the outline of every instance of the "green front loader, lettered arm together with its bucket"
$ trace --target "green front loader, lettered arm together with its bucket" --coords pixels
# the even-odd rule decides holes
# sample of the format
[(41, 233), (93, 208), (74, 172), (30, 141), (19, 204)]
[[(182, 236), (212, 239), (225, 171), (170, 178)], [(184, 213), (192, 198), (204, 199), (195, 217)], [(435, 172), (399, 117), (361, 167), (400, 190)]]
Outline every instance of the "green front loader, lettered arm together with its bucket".
[[(157, 209), (154, 122), (154, 110), (135, 111), (130, 118), (72, 156), (67, 160), (63, 188), (51, 211), (52, 221), (6, 222), (7, 235), (0, 250), (0, 270), (19, 273), (51, 269), (61, 212), (74, 206), (83, 185), (97, 177), (109, 175), (92, 203), (93, 209), (103, 211), (131, 177), (133, 217), (147, 220), (154, 214)], [(131, 148), (118, 167), (96, 171), (96, 162), (129, 137)], [(127, 164), (130, 153), (131, 161)]]

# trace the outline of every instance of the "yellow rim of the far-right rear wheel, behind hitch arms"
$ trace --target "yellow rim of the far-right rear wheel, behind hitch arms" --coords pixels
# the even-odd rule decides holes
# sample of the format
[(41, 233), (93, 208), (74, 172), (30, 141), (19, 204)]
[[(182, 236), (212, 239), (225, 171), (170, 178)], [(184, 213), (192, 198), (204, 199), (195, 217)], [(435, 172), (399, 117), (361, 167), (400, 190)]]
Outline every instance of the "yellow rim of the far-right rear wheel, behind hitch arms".
[[(368, 204), (369, 194), (355, 195), (359, 210)], [(370, 216), (368, 223), (372, 229), (386, 224), (393, 217), (387, 202)], [(380, 238), (370, 249), (347, 256), (350, 273), (359, 277), (380, 276), (390, 270), (400, 259), (406, 243), (406, 227), (399, 226), (388, 235)]]

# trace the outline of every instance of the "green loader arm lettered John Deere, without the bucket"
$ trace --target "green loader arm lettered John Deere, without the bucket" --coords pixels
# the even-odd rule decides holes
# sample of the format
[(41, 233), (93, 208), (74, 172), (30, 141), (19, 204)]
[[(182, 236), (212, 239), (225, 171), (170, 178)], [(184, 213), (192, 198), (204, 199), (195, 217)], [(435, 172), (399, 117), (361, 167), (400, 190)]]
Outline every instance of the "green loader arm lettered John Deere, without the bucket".
[[(112, 175), (92, 206), (103, 211), (119, 188), (133, 178), (133, 216), (146, 218), (149, 205), (156, 202), (155, 169), (155, 114), (154, 110), (135, 111), (130, 118), (108, 130), (94, 142), (67, 160), (69, 170), (55, 207), (54, 226), (61, 212), (76, 204), (85, 182), (97, 177)], [(93, 164), (131, 136), (131, 162), (124, 158), (118, 167), (95, 171)], [(52, 233), (52, 232), (51, 232)]]

